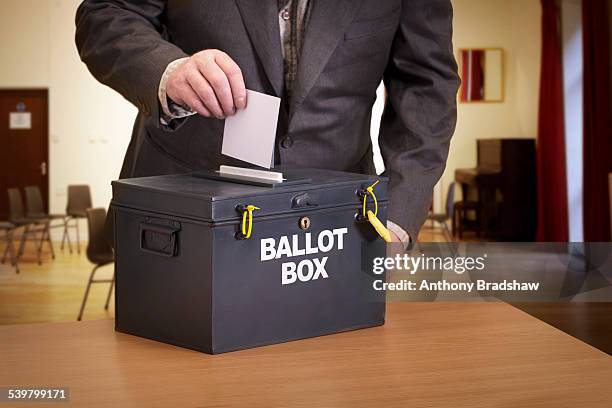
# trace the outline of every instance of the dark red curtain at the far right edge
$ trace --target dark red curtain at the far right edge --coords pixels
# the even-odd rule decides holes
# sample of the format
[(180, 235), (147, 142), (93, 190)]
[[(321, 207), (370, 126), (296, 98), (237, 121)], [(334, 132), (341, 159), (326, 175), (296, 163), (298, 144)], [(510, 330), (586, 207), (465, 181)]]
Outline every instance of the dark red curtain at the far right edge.
[(610, 241), (608, 173), (612, 172), (608, 0), (583, 0), (584, 240)]

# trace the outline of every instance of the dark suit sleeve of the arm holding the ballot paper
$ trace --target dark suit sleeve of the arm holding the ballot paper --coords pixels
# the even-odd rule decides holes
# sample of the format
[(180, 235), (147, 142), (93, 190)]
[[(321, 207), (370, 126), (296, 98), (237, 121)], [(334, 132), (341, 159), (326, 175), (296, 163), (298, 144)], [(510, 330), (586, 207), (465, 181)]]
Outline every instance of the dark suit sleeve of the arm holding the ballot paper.
[(187, 56), (164, 39), (166, 3), (84, 0), (76, 13), (76, 45), (89, 71), (155, 118), (160, 117), (158, 87), (166, 67)]

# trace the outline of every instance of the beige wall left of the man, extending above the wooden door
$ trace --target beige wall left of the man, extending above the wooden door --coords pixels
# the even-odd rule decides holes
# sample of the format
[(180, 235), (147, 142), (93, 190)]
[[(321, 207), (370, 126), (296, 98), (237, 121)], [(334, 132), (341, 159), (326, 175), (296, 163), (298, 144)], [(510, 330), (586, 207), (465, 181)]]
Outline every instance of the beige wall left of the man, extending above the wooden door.
[(119, 173), (136, 109), (97, 83), (74, 46), (78, 0), (0, 2), (0, 87), (49, 88), (49, 183), (54, 212), (66, 206), (66, 186), (92, 186), (106, 206)]

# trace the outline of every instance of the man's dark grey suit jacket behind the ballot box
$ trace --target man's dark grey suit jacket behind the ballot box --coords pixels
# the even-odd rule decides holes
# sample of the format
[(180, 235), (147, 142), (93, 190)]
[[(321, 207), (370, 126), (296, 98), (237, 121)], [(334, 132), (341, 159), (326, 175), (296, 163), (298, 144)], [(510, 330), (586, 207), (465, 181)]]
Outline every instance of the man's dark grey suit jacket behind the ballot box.
[[(237, 164), (221, 155), (223, 121), (160, 124), (158, 85), (171, 61), (229, 54), (249, 89), (283, 95), (277, 0), (85, 0), (82, 60), (140, 113), (121, 177)], [(380, 147), (389, 219), (416, 237), (456, 122), (450, 0), (314, 0), (291, 102), (278, 126), (284, 166), (374, 172), (370, 117), (384, 78)]]

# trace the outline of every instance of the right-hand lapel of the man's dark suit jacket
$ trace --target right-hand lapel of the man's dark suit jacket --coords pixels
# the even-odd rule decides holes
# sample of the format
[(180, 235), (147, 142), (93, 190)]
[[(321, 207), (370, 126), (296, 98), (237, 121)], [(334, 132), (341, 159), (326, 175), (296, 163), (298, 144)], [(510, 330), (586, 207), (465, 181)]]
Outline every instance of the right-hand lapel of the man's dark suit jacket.
[(291, 97), (291, 116), (323, 72), (361, 4), (359, 0), (310, 1), (312, 9)]

